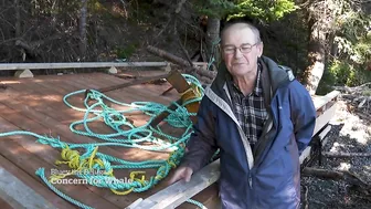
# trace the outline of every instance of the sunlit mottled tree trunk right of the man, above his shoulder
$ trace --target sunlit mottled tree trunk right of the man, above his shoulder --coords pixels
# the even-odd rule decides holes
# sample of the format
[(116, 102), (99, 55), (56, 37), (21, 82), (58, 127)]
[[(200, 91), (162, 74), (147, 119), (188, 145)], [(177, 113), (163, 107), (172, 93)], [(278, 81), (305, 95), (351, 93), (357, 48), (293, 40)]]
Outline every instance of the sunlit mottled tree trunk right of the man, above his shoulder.
[(325, 71), (326, 61), (326, 33), (320, 28), (320, 22), (309, 21), (308, 66), (304, 72), (304, 84), (310, 95), (315, 95)]

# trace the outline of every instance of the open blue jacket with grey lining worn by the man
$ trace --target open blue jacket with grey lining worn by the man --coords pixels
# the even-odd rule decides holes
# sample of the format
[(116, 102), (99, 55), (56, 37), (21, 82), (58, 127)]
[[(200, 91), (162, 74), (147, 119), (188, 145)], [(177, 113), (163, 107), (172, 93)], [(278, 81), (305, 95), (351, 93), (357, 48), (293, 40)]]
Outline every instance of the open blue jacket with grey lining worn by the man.
[(299, 155), (311, 139), (316, 109), (290, 70), (264, 56), (258, 62), (268, 118), (254, 149), (232, 112), (224, 66), (205, 88), (182, 165), (197, 171), (220, 148), (223, 208), (296, 209), (300, 202)]

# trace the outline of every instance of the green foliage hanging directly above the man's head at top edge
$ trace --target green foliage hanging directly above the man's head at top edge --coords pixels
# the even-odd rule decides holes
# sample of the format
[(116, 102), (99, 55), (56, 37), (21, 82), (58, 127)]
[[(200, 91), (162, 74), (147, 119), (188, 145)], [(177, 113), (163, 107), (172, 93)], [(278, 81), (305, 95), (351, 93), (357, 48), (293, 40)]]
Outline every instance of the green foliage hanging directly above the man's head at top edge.
[(206, 0), (194, 1), (195, 9), (210, 17), (236, 18), (251, 17), (263, 21), (274, 21), (297, 9), (292, 0)]

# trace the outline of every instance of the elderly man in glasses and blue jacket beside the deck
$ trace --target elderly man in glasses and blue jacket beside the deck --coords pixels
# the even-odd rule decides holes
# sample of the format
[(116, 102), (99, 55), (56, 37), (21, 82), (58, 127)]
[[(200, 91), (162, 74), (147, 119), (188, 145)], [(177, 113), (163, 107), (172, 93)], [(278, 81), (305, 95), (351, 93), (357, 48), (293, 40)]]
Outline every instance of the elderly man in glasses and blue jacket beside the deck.
[(186, 156), (169, 184), (189, 181), (220, 148), (222, 208), (299, 208), (299, 155), (316, 122), (311, 97), (289, 69), (262, 56), (252, 24), (227, 24), (221, 50), (224, 64), (205, 88)]

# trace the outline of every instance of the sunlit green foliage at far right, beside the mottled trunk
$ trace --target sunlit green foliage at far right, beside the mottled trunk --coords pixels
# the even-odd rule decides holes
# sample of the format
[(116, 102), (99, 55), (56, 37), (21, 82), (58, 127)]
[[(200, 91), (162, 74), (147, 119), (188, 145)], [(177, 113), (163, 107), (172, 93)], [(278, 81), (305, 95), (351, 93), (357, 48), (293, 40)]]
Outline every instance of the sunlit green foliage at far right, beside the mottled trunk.
[(357, 86), (371, 81), (367, 64), (371, 61), (371, 17), (349, 0), (333, 0), (333, 32), (338, 51), (325, 71), (318, 92), (331, 85)]

